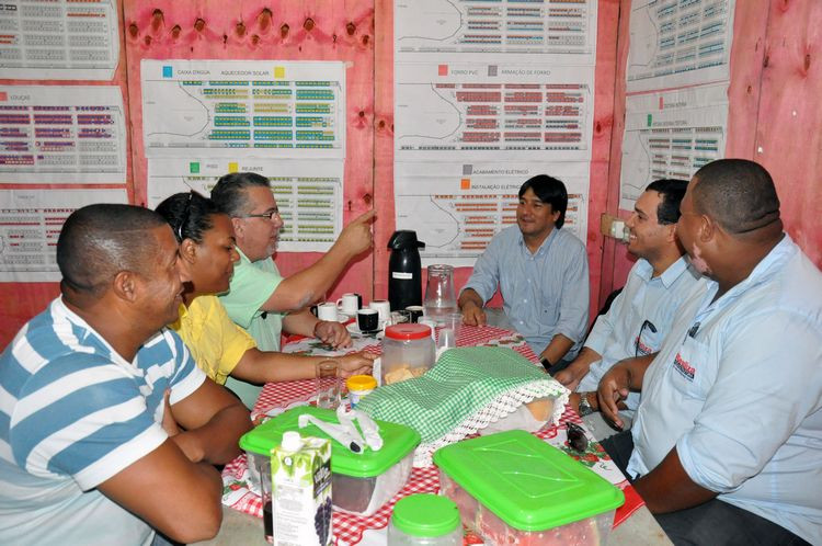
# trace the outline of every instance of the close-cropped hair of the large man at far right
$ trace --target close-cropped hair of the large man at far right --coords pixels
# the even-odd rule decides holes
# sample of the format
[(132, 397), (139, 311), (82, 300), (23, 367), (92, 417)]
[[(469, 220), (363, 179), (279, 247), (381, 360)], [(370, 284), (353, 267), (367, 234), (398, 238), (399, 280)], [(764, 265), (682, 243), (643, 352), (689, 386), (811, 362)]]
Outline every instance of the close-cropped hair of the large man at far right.
[(738, 236), (779, 221), (779, 197), (774, 180), (746, 159), (711, 161), (694, 174), (694, 208)]

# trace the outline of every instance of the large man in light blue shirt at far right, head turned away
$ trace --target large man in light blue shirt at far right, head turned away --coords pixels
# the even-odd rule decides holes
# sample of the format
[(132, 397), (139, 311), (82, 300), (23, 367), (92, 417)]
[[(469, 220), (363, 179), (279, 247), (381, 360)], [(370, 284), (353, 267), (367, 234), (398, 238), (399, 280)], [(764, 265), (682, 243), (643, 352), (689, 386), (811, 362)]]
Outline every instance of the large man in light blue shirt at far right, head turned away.
[(675, 544), (820, 544), (822, 273), (752, 161), (699, 169), (681, 209), (680, 239), (710, 281), (652, 362), (603, 376), (617, 424), (617, 401), (641, 388), (631, 431), (603, 445)]

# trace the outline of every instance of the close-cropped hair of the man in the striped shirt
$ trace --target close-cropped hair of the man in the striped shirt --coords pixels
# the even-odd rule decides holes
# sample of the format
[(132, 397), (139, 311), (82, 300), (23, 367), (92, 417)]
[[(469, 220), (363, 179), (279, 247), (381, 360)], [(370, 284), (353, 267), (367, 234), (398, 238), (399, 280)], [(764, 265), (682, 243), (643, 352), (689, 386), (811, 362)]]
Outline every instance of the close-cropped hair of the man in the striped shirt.
[(142, 272), (157, 251), (149, 231), (165, 220), (153, 211), (132, 205), (96, 204), (78, 208), (57, 239), (60, 286), (100, 297), (121, 271)]

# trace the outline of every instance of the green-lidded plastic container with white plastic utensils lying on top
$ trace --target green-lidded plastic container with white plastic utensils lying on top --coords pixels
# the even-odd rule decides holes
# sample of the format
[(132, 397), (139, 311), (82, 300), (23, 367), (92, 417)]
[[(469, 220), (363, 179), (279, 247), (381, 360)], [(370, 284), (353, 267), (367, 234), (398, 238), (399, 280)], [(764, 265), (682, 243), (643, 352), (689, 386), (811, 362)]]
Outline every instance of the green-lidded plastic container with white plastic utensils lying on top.
[[(243, 434), (240, 447), (267, 457), (287, 431), (298, 431), (302, 436), (329, 437), (313, 424), (300, 429), (298, 419), (304, 413), (335, 424), (340, 422), (332, 410), (299, 406)], [(331, 440), (332, 502), (339, 509), (370, 515), (402, 489), (411, 474), (413, 450), (420, 443), (420, 434), (402, 424), (376, 423), (383, 436), (383, 448), (377, 452), (365, 446), (363, 453), (353, 453)]]

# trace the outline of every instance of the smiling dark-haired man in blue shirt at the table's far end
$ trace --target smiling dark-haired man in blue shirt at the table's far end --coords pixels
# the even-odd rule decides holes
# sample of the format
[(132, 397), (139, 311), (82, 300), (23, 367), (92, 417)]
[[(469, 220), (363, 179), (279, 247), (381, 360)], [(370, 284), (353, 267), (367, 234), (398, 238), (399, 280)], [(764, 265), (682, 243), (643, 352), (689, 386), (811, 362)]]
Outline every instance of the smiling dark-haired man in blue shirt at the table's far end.
[(484, 304), (498, 287), (505, 315), (553, 372), (576, 355), (587, 328), (585, 246), (563, 231), (564, 184), (546, 174), (520, 187), (516, 226), (494, 236), (459, 294), (465, 323), (486, 323)]

